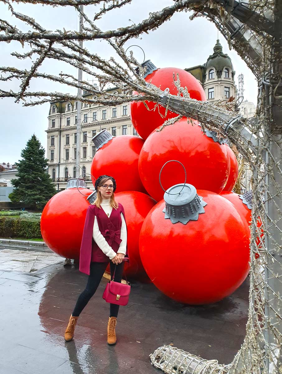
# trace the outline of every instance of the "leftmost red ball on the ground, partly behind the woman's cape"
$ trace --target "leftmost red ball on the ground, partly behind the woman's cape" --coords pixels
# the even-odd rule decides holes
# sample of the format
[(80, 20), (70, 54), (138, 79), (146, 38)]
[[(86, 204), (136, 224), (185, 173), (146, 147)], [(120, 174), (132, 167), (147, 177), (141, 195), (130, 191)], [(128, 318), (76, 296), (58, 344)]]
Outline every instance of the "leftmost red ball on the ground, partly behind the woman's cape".
[(53, 196), (41, 215), (41, 234), (47, 246), (64, 258), (79, 259), (86, 211), (86, 200), (93, 191), (68, 188)]

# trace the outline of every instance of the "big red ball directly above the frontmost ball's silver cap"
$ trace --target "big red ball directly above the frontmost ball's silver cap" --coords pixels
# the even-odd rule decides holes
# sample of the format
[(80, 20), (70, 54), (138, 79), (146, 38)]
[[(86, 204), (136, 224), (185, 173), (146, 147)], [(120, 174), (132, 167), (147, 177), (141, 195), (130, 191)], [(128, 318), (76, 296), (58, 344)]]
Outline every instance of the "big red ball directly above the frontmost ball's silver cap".
[[(156, 130), (145, 141), (139, 156), (139, 174), (148, 193), (157, 201), (164, 191), (159, 185), (159, 172), (165, 162), (182, 162), (187, 172), (187, 183), (196, 188), (219, 193), (226, 184), (230, 160), (225, 145), (214, 142), (202, 132), (198, 122), (194, 126), (183, 118), (174, 125)], [(161, 183), (166, 190), (177, 183), (184, 183), (185, 173), (179, 163), (165, 165)]]

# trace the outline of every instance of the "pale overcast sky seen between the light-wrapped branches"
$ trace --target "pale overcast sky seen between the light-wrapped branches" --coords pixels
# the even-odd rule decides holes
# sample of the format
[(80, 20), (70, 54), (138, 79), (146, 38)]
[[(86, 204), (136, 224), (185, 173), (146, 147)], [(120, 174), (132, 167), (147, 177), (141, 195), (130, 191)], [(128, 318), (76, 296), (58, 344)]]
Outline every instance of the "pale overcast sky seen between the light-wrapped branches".
[[(139, 23), (148, 17), (149, 12), (161, 10), (165, 6), (173, 4), (173, 0), (133, 0), (131, 4), (121, 9), (109, 12), (97, 25), (100, 29), (114, 30), (118, 27)], [(16, 4), (13, 2), (16, 11), (29, 15), (40, 23), (46, 30), (78, 30), (78, 14), (72, 7), (50, 7), (41, 4)], [(99, 7), (98, 7), (99, 8)], [(85, 10), (85, 7), (84, 7)], [(97, 7), (86, 7), (88, 14), (94, 14)], [(11, 17), (8, 6), (0, 3), (0, 14), (2, 19), (7, 19), (12, 25), (17, 25), (21, 30), (28, 31), (30, 27)], [(180, 12), (174, 14), (170, 21), (161, 25), (158, 30), (143, 34), (139, 39), (131, 39), (127, 46), (138, 44), (146, 55), (157, 67), (178, 67), (188, 68), (204, 64), (209, 55), (213, 53), (213, 47), (217, 40), (217, 28), (205, 18), (189, 20), (191, 13)], [(257, 82), (250, 69), (237, 55), (236, 51), (229, 50), (226, 40), (219, 34), (219, 40), (223, 46), (223, 52), (232, 59), (236, 71), (235, 81), (238, 86), (238, 75), (244, 74), (244, 97), (254, 103), (257, 98)], [(105, 41), (94, 40), (85, 43), (87, 49), (97, 53), (103, 58), (109, 58), (114, 53)], [(1, 42), (0, 61), (2, 66), (15, 66), (19, 69), (30, 70), (31, 59), (19, 60), (10, 53), (18, 51), (26, 52), (28, 48), (22, 49), (19, 42)], [(139, 61), (143, 60), (143, 54), (138, 48), (133, 49), (134, 55)], [(74, 68), (56, 61), (47, 60), (39, 69), (40, 72), (58, 75), (61, 71), (77, 76)], [(83, 76), (83, 79), (90, 77)], [(18, 91), (19, 82), (0, 82), (0, 87), (5, 90)], [(60, 91), (75, 93), (76, 90), (60, 84), (55, 84), (42, 79), (32, 79), (30, 91)], [(75, 90), (75, 91), (74, 91)], [(28, 139), (34, 133), (44, 148), (47, 145), (46, 129), (48, 126), (47, 116), (50, 104), (37, 105), (35, 107), (22, 107), (22, 104), (15, 104), (14, 99), (4, 98), (0, 101), (0, 162), (15, 163), (20, 159), (22, 148), (25, 147)]]

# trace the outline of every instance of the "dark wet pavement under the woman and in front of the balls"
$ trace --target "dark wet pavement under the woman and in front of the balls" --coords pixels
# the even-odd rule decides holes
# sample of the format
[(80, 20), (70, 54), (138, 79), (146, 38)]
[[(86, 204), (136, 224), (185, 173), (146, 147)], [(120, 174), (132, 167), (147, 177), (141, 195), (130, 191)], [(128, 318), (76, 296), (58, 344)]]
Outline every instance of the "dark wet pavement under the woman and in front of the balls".
[(74, 340), (65, 342), (86, 281), (63, 262), (31, 273), (4, 270), (0, 263), (0, 374), (162, 373), (149, 354), (164, 344), (223, 364), (243, 343), (248, 279), (220, 303), (199, 307), (176, 303), (152, 284), (132, 283), (130, 302), (120, 307), (117, 345), (108, 346), (104, 278), (78, 319)]

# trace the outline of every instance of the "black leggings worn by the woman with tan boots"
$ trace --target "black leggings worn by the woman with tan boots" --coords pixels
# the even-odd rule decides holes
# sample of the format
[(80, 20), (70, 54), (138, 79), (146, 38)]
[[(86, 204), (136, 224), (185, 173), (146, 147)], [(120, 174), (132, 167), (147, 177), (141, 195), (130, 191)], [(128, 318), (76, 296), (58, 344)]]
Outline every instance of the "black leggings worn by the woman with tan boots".
[[(102, 279), (102, 276), (108, 266), (108, 262), (92, 262), (90, 263), (90, 275), (88, 277), (86, 288), (83, 292), (79, 295), (77, 302), (74, 307), (74, 311), (72, 312), (73, 317), (78, 317), (80, 313), (83, 311), (84, 307), (86, 307), (88, 301), (92, 298), (96, 289), (99, 286), (99, 283)], [(123, 268), (124, 262), (117, 265), (115, 270), (115, 264), (110, 262), (111, 267), (111, 275), (113, 276), (115, 271), (115, 282), (121, 282), (121, 278), (123, 275)], [(118, 316), (118, 309), (120, 308), (117, 304), (110, 304), (110, 317), (117, 317)]]

